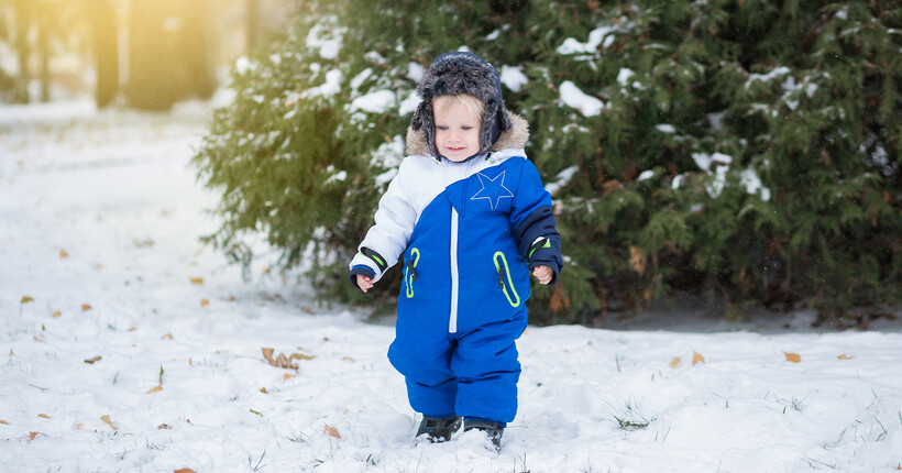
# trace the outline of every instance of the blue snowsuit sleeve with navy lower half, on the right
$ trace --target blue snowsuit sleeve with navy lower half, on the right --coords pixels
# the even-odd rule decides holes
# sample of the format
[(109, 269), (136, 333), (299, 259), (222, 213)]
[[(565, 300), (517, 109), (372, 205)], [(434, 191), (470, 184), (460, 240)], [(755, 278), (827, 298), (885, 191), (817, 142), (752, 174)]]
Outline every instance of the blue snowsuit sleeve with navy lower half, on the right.
[(548, 266), (554, 272), (549, 284), (557, 283), (563, 268), (561, 234), (551, 211), (551, 195), (544, 190), (539, 170), (530, 161), (522, 166), (510, 210), (510, 228), (530, 272), (536, 266)]

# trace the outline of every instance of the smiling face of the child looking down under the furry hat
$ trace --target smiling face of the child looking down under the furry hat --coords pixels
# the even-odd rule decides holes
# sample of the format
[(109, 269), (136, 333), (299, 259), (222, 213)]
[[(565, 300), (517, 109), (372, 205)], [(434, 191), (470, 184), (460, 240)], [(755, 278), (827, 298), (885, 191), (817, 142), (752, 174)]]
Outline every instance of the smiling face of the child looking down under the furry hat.
[(451, 100), (448, 96), (442, 96), (432, 101), (436, 121), (436, 147), (442, 156), (460, 163), (480, 151), (480, 128), (481, 120), (470, 109), (458, 102), (446, 114), (443, 110), (444, 100)]

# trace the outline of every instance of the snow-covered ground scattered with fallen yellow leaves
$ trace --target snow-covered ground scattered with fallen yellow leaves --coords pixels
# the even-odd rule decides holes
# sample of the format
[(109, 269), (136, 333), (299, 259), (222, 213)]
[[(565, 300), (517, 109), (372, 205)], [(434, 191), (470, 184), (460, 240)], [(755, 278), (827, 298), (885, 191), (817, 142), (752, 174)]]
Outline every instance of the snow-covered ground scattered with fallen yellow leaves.
[(198, 242), (216, 197), (187, 163), (208, 117), (0, 107), (0, 471), (902, 469), (900, 323), (818, 332), (806, 314), (530, 328), (501, 454), (477, 432), (414, 446), (391, 321), (261, 267), (244, 283)]

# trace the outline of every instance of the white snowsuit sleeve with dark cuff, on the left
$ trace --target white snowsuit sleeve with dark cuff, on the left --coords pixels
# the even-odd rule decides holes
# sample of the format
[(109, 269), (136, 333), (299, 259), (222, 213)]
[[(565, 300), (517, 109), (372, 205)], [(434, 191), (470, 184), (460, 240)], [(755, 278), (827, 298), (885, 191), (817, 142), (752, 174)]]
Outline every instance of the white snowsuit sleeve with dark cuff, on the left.
[[(406, 161), (405, 161), (406, 162)], [(358, 254), (349, 265), (351, 284), (355, 287), (356, 275), (363, 274), (375, 280), (395, 265), (398, 256), (407, 248), (410, 234), (417, 222), (417, 211), (410, 205), (405, 179), (405, 162), (398, 168), (398, 175), (388, 184), (388, 189), (380, 199), (375, 215), (375, 224), (366, 232), (363, 242), (358, 246)]]

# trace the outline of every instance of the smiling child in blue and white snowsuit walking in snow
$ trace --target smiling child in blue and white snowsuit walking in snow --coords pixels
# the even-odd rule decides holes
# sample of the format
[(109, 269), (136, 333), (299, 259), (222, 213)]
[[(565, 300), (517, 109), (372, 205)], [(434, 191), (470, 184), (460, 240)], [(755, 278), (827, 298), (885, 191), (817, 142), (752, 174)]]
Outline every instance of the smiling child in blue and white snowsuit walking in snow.
[(485, 431), (496, 449), (517, 413), (529, 272), (563, 263), (551, 197), (526, 158), (527, 123), (504, 108), (495, 69), (470, 53), (436, 58), (417, 88), (408, 157), (351, 261), (364, 293), (403, 255), (388, 359), (421, 413), (417, 437)]

